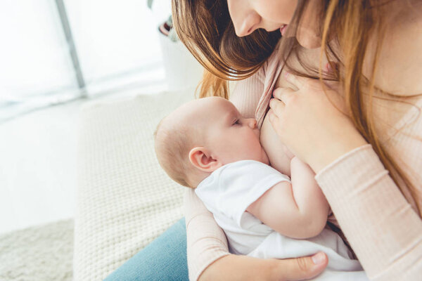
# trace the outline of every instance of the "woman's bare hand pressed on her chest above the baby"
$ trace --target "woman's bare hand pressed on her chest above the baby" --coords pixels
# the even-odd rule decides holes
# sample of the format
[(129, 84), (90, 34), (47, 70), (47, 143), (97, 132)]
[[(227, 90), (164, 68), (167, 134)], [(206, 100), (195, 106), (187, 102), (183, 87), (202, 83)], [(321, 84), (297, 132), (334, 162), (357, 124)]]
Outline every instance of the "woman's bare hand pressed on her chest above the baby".
[(269, 120), (281, 141), (316, 173), (366, 143), (350, 118), (340, 112), (344, 102), (333, 90), (335, 84), (324, 86), (319, 80), (293, 74), (286, 74), (286, 80), (298, 90), (274, 90)]

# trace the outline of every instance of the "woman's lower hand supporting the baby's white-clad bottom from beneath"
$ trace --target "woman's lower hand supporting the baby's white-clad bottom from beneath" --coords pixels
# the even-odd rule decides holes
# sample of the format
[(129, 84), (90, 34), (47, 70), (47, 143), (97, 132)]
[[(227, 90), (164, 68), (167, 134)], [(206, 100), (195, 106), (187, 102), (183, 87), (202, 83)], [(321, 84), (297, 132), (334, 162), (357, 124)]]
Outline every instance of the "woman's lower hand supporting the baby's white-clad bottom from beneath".
[(205, 268), (200, 281), (206, 280), (308, 280), (328, 265), (323, 252), (298, 259), (257, 259), (229, 254)]

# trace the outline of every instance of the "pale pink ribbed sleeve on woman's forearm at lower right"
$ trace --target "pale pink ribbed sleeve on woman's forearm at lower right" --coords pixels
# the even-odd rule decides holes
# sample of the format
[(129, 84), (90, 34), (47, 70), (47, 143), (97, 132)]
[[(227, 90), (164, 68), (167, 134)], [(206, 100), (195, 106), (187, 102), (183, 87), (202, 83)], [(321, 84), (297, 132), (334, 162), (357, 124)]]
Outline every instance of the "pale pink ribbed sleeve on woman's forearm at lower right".
[(347, 153), (316, 181), (371, 280), (418, 280), (422, 221), (371, 145)]

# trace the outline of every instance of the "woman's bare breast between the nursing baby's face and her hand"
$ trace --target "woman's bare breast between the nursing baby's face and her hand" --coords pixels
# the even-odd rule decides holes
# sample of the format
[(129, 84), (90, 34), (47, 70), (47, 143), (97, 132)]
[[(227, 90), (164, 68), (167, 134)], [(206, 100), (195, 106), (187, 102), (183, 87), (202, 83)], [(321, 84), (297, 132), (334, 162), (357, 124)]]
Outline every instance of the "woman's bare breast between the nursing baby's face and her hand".
[(268, 116), (262, 123), (260, 141), (262, 148), (267, 152), (270, 165), (282, 174), (290, 176), (290, 158), (286, 155), (284, 145), (271, 126)]

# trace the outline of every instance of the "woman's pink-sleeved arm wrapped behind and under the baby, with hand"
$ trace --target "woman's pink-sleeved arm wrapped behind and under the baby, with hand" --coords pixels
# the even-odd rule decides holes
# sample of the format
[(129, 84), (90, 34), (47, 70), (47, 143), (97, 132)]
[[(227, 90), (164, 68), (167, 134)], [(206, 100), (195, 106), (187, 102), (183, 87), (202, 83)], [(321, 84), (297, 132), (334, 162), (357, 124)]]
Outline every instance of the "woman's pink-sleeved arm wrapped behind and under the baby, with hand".
[[(253, 117), (263, 91), (263, 70), (238, 81), (231, 101), (245, 117)], [(300, 259), (255, 259), (229, 254), (226, 236), (193, 190), (186, 190), (187, 259), (190, 280), (305, 280), (326, 268), (319, 253)]]

